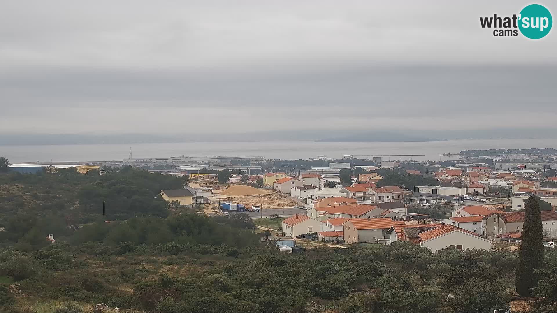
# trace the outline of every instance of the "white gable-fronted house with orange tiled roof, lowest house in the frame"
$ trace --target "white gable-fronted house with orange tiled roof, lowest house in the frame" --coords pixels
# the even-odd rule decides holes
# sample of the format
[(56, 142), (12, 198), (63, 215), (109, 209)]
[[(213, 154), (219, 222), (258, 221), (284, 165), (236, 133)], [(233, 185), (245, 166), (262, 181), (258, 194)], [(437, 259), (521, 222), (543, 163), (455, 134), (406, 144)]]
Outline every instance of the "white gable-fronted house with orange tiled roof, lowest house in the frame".
[(446, 247), (455, 247), (459, 250), (468, 248), (491, 250), (491, 240), (451, 224), (442, 224), (418, 236), (420, 246), (428, 247), (432, 252)]

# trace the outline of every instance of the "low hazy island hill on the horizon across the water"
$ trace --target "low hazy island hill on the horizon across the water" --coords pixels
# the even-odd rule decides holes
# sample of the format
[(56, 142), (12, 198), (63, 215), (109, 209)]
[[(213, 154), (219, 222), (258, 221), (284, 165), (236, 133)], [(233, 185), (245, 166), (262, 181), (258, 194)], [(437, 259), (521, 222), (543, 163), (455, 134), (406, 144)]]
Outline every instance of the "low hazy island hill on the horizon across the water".
[(373, 131), (369, 133), (360, 133), (354, 135), (344, 135), (333, 138), (317, 139), (318, 143), (388, 143), (401, 141), (447, 141), (447, 139), (429, 138), (425, 136), (415, 136), (397, 133), (388, 133), (385, 131)]

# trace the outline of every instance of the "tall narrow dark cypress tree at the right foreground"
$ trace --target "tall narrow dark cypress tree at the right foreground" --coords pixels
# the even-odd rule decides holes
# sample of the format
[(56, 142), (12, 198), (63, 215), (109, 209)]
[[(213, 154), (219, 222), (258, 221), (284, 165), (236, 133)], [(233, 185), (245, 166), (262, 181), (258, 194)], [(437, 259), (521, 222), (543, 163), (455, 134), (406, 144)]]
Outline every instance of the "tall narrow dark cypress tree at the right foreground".
[(541, 223), (540, 205), (531, 195), (524, 206), (524, 224), (522, 225), (522, 244), (519, 250), (519, 263), (516, 267), (516, 292), (530, 296), (531, 288), (538, 285), (535, 269), (541, 268), (544, 261), (544, 244), (541, 241), (543, 224)]

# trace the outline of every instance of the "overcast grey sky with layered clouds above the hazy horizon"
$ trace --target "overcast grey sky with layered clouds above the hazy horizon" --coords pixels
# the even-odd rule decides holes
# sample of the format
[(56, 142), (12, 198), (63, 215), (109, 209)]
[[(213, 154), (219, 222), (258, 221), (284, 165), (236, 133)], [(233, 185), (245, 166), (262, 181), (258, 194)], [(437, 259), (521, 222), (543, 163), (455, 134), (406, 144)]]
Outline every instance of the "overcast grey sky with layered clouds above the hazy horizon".
[[(557, 14), (557, 4), (545, 4)], [(0, 0), (0, 132), (553, 126), (524, 1)]]

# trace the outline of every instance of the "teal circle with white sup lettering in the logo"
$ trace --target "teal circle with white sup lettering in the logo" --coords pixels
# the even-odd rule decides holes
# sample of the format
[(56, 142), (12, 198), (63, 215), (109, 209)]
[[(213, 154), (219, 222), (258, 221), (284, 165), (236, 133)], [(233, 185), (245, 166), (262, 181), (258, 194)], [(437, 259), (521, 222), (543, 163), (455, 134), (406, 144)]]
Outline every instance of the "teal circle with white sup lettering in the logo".
[(553, 18), (548, 9), (540, 4), (530, 4), (520, 11), (519, 30), (530, 39), (540, 39), (548, 35)]

